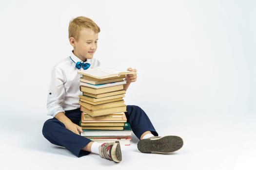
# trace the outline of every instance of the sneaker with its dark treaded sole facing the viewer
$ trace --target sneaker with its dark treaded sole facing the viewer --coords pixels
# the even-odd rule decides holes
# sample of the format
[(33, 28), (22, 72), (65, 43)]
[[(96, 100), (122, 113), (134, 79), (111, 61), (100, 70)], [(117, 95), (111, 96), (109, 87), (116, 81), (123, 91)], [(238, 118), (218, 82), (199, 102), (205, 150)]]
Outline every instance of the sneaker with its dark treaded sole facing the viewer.
[(183, 146), (179, 136), (152, 136), (138, 141), (138, 150), (142, 153), (172, 153)]

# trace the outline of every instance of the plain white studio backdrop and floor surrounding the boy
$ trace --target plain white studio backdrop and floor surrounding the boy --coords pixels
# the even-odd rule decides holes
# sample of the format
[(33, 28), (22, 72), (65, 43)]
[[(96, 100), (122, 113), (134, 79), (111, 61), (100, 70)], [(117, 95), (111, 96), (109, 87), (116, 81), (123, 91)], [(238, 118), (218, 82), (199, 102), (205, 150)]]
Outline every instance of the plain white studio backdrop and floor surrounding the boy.
[[(65, 168), (90, 160), (109, 168), (131, 168), (130, 162), (137, 167), (252, 168), (255, 7), (254, 0), (1, 0), (2, 166), (35, 169), (39, 164), (50, 170), (58, 161)], [(125, 102), (144, 109), (159, 135), (183, 137), (179, 152), (138, 153), (135, 139), (131, 150), (124, 148), (123, 162), (112, 167), (98, 155), (75, 158), (43, 138), (42, 124), (50, 118), (50, 72), (70, 54), (68, 23), (78, 16), (92, 18), (101, 29), (95, 58), (112, 68), (137, 68), (138, 81)]]

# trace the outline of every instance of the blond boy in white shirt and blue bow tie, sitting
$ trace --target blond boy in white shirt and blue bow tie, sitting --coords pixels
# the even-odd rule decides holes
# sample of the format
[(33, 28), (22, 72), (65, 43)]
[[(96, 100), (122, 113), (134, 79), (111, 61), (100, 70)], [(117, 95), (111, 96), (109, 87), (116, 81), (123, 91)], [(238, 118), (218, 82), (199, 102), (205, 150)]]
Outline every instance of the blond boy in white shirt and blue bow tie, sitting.
[[(69, 42), (73, 47), (71, 55), (57, 64), (52, 70), (52, 79), (47, 98), (47, 115), (52, 119), (45, 121), (43, 136), (51, 143), (63, 146), (71, 153), (80, 157), (90, 152), (100, 157), (120, 162), (122, 160), (119, 142), (97, 143), (80, 136), (79, 126), (81, 111), (79, 109), (79, 69), (99, 66), (99, 61), (93, 58), (97, 50), (98, 25), (87, 17), (76, 17), (69, 23)], [(130, 71), (136, 69), (128, 68)], [(127, 90), (137, 75), (127, 75)], [(140, 139), (138, 150), (142, 153), (171, 153), (180, 149), (183, 141), (178, 136), (158, 137), (146, 113), (134, 105), (127, 105), (125, 113), (134, 134)]]

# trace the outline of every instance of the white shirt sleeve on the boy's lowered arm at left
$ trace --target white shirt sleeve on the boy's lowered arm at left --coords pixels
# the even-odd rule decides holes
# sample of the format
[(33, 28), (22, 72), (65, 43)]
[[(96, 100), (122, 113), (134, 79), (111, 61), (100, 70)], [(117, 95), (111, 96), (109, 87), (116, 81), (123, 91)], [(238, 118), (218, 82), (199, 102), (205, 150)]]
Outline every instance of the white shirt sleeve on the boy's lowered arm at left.
[(62, 70), (58, 67), (53, 68), (47, 96), (47, 115), (55, 117), (57, 113), (64, 112), (61, 104), (65, 98), (65, 82)]

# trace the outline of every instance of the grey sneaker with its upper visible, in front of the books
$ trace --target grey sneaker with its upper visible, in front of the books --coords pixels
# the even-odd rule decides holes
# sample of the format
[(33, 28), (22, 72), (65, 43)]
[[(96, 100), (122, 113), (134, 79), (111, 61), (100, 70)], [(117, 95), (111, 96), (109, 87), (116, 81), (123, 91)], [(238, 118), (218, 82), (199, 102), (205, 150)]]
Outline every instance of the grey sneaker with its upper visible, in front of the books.
[(114, 162), (121, 162), (122, 153), (119, 141), (103, 143), (99, 146), (99, 156)]

